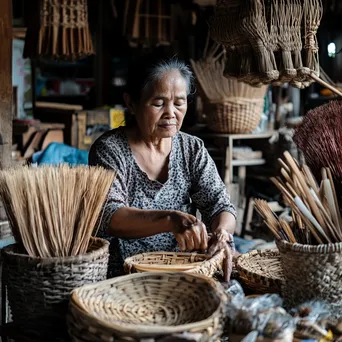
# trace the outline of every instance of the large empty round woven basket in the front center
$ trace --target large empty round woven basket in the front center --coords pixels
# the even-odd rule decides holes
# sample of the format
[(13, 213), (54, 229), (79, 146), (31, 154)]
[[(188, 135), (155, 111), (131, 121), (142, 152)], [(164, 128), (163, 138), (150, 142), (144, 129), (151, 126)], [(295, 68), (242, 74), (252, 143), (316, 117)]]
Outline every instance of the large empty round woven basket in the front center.
[(146, 272), (73, 291), (68, 315), (72, 341), (215, 341), (228, 297), (208, 277)]

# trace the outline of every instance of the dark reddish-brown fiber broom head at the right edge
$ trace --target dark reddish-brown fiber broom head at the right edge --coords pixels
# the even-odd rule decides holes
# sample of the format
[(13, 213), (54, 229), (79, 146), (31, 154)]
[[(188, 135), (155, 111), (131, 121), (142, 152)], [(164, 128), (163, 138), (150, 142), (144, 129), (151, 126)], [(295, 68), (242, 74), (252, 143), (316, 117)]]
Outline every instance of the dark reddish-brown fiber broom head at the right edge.
[(310, 110), (296, 128), (294, 142), (317, 180), (321, 180), (322, 168), (331, 170), (342, 208), (342, 102), (331, 101)]

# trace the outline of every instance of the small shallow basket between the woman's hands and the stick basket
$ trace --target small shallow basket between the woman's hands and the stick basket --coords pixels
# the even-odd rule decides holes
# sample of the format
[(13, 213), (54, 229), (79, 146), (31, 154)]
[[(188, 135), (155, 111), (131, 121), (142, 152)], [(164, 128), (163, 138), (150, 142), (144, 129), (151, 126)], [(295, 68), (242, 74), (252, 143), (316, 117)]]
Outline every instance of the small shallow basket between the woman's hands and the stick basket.
[(240, 281), (255, 293), (281, 293), (284, 274), (278, 250), (254, 250), (242, 254), (236, 267)]

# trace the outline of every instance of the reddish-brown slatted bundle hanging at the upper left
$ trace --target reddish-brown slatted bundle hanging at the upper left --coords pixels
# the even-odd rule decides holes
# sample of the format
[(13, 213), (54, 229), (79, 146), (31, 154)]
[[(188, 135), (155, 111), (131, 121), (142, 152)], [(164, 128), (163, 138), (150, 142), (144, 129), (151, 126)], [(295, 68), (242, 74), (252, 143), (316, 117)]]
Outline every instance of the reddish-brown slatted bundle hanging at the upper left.
[(24, 57), (74, 60), (93, 53), (87, 0), (39, 0), (39, 20), (28, 27)]

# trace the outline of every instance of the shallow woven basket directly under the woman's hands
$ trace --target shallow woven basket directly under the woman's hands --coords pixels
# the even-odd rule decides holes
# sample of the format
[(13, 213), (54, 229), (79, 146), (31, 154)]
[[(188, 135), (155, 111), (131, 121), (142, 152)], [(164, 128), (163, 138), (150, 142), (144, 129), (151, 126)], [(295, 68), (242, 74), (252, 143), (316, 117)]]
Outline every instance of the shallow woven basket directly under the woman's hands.
[(151, 252), (134, 255), (124, 263), (125, 273), (135, 272), (190, 272), (212, 277), (222, 270), (224, 251), (208, 259), (205, 254)]

